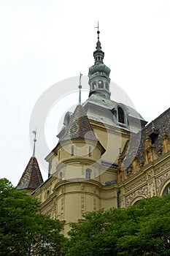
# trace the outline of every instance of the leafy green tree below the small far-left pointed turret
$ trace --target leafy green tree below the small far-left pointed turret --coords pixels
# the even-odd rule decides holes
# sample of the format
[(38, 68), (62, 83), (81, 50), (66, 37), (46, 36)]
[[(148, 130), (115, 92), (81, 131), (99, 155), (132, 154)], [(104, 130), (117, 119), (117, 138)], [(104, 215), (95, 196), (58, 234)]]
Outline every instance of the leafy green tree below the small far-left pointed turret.
[(63, 255), (63, 224), (38, 212), (36, 199), (0, 179), (0, 255)]

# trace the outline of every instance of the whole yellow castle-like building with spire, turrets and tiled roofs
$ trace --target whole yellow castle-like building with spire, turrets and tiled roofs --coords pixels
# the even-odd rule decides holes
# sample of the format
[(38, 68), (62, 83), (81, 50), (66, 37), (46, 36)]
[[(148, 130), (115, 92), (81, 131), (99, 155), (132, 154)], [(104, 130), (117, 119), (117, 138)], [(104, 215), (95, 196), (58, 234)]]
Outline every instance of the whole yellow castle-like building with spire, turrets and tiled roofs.
[(33, 155), (18, 183), (38, 198), (42, 214), (64, 222), (65, 234), (85, 212), (128, 207), (170, 190), (170, 108), (147, 124), (136, 110), (110, 99), (99, 33), (89, 97), (81, 104), (80, 84), (80, 103), (66, 113), (58, 144), (45, 158), (47, 180)]

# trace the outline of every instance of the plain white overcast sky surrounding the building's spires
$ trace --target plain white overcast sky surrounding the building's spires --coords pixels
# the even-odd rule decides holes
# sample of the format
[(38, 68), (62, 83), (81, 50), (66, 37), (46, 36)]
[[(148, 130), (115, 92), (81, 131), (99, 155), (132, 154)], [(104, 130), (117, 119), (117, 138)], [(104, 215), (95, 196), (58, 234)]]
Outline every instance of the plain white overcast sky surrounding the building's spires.
[[(31, 113), (43, 92), (80, 71), (88, 75), (97, 20), (111, 80), (147, 121), (169, 108), (169, 0), (0, 0), (0, 178), (18, 184), (32, 154)], [(50, 149), (55, 118), (45, 124)]]

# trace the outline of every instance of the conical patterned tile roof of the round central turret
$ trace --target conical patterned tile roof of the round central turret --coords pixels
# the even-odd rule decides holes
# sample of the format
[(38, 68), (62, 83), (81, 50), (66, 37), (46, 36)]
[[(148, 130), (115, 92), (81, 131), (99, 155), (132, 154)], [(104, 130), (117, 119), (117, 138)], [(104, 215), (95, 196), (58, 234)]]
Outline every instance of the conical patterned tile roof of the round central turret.
[(98, 141), (82, 105), (77, 105), (77, 108), (74, 110), (72, 118), (69, 121), (69, 125), (59, 142), (75, 138)]

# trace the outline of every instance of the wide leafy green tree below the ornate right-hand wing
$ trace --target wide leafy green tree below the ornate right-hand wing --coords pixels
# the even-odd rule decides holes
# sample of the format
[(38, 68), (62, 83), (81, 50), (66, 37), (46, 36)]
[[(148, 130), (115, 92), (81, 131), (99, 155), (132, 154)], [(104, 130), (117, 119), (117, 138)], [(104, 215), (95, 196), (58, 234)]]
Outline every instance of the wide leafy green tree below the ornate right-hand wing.
[(85, 214), (72, 223), (66, 256), (169, 256), (170, 195)]

